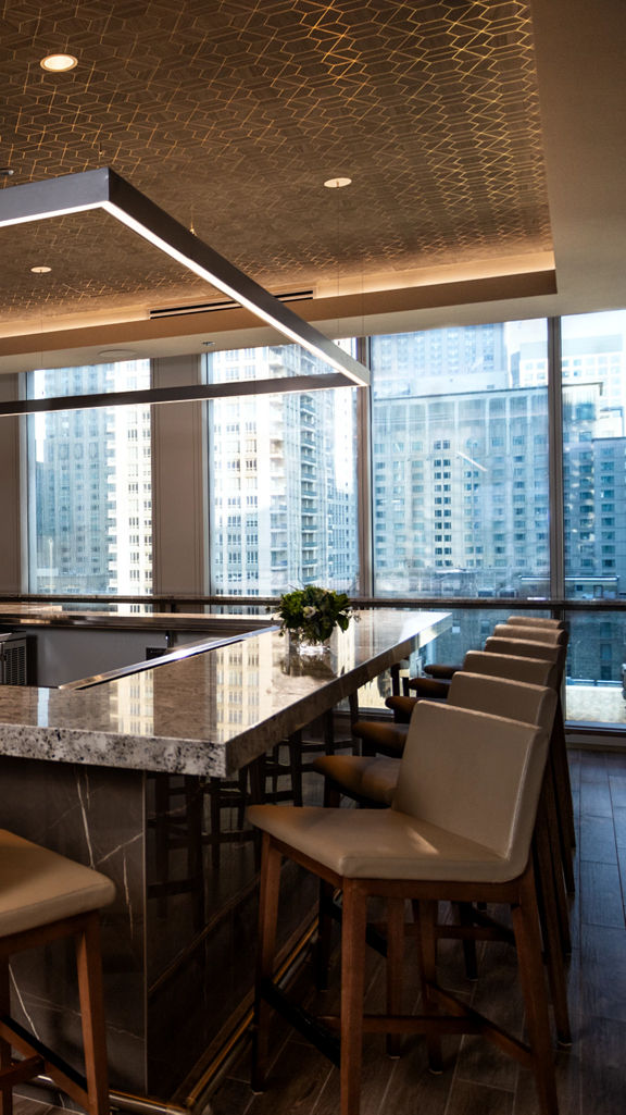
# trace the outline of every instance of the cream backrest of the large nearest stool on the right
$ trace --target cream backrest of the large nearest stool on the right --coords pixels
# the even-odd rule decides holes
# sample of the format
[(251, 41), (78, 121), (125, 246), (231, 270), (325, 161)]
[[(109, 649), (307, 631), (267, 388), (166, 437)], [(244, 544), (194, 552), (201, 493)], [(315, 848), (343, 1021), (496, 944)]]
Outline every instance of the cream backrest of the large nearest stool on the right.
[(393, 808), (525, 870), (548, 754), (545, 728), (437, 701), (415, 706)]

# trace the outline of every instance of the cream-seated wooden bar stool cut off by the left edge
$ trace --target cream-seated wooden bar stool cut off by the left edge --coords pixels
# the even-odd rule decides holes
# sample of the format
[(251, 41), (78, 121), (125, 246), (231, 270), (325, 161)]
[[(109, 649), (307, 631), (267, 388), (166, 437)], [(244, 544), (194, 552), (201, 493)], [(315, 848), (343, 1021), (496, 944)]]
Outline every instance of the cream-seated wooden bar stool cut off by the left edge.
[[(2, 1115), (11, 1115), (12, 1087), (41, 1073), (89, 1115), (107, 1115), (99, 910), (114, 898), (115, 886), (106, 875), (0, 830)], [(76, 943), (85, 1076), (10, 1017), (10, 958), (63, 937), (72, 937)], [(14, 1060), (12, 1049), (22, 1059)]]

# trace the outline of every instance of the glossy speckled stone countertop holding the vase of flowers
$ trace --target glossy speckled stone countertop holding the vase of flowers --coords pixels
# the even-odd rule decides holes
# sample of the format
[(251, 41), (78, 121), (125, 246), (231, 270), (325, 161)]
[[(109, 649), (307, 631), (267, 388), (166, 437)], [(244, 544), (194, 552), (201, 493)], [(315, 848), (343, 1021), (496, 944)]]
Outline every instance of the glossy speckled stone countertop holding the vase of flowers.
[(263, 631), (90, 689), (0, 686), (0, 754), (229, 776), (449, 624), (443, 612), (365, 610), (323, 660)]

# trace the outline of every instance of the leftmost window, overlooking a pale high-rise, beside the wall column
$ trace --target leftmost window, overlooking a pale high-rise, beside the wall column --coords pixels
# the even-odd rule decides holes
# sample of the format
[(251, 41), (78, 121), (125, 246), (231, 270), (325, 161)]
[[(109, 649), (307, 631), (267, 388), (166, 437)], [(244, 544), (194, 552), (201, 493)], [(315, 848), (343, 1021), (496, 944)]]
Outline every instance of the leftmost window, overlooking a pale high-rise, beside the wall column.
[[(29, 398), (149, 387), (149, 360), (42, 369)], [(28, 419), (30, 592), (151, 590), (148, 406), (94, 407)]]

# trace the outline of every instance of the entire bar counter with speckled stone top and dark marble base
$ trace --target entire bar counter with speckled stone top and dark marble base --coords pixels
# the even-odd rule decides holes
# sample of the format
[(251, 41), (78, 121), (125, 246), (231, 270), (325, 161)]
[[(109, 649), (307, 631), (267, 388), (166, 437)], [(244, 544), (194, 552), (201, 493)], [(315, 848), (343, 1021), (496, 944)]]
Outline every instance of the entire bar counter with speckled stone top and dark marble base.
[[(22, 624), (37, 623), (38, 614), (55, 622), (45, 608), (28, 608)], [(85, 613), (76, 618), (89, 626)], [(1, 619), (12, 628), (19, 610)], [(173, 617), (138, 619), (149, 630)], [(193, 1106), (203, 1057), (250, 992), (254, 842), (223, 792), (250, 789), (239, 772), (351, 694), (361, 690), (366, 704), (362, 687), (450, 621), (440, 612), (362, 611), (323, 658), (306, 660), (290, 653), (275, 628), (245, 631), (242, 617), (232, 636), (225, 629), (217, 642), (207, 637), (202, 649), (202, 623), (185, 628), (177, 615), (195, 644), (166, 651), (149, 668), (84, 679), (87, 688), (0, 686), (0, 825), (117, 885), (104, 915), (114, 1090)], [(307, 778), (317, 799), (316, 776)], [(312, 899), (309, 881), (294, 874), (284, 941)], [(76, 991), (66, 983), (71, 968), (63, 957), (60, 946), (46, 962), (19, 958), (14, 1017), (76, 1059)]]

